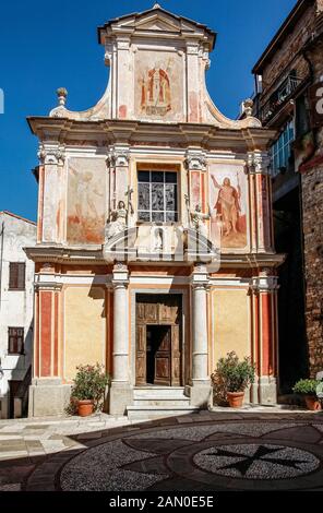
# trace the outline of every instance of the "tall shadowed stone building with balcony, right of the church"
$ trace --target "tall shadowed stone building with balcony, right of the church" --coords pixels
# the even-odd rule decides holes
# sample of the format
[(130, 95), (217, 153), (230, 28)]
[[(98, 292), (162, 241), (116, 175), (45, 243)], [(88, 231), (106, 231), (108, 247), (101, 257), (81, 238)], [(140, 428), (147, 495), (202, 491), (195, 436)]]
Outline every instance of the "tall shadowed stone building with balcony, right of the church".
[(280, 391), (323, 369), (323, 1), (299, 0), (253, 68), (271, 147)]

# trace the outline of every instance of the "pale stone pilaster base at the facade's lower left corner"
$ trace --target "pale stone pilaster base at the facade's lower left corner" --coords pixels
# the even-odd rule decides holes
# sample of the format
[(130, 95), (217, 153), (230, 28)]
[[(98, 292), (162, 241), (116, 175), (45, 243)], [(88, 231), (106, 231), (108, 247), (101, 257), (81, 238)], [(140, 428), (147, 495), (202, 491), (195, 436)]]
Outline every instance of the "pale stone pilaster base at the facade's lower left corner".
[(29, 386), (28, 417), (64, 415), (70, 403), (71, 385), (60, 378), (34, 379)]

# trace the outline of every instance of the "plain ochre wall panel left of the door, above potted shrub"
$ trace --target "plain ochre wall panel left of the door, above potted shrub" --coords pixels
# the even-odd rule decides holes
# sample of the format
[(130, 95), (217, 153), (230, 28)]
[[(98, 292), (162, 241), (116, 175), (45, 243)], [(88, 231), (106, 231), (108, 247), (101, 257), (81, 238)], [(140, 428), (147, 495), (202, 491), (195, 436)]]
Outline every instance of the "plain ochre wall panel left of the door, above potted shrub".
[(105, 365), (105, 288), (67, 287), (64, 290), (64, 379), (75, 375), (80, 363)]

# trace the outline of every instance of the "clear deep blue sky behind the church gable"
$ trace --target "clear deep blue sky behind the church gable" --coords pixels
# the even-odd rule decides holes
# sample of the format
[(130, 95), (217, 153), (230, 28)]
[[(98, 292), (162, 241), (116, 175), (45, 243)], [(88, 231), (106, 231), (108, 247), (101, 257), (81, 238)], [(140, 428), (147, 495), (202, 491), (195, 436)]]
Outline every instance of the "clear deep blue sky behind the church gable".
[[(68, 107), (83, 110), (103, 95), (108, 71), (96, 27), (111, 17), (149, 9), (154, 0), (11, 0), (0, 19), (0, 211), (36, 220), (37, 141), (27, 116), (46, 116), (56, 90), (69, 91)], [(207, 86), (217, 107), (236, 118), (251, 95), (251, 69), (296, 0), (163, 0), (162, 7), (218, 33)]]

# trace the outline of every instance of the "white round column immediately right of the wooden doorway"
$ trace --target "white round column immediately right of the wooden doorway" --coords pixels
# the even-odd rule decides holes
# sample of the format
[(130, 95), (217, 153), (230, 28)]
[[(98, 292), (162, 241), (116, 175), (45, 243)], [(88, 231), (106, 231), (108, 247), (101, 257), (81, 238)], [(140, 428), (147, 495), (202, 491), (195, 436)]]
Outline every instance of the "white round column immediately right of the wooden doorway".
[(207, 272), (204, 264), (194, 267), (192, 286), (192, 386), (191, 405), (206, 408), (212, 402), (208, 377)]

